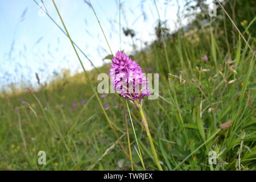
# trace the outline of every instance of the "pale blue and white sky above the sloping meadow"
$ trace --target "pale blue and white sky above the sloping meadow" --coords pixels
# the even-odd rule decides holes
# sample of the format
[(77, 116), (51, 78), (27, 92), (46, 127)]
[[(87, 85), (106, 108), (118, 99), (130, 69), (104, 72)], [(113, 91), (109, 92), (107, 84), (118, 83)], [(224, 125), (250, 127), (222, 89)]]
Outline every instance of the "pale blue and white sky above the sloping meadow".
[[(40, 3), (39, 0), (37, 0)], [(100, 66), (102, 58), (110, 54), (92, 9), (83, 0), (55, 0), (71, 38), (79, 45), (94, 65)], [(104, 28), (113, 52), (119, 49), (118, 0), (92, 0), (98, 18)], [(142, 7), (143, 2), (143, 7)], [(161, 19), (175, 30), (176, 1), (156, 1)], [(52, 18), (61, 25), (52, 1), (44, 0)], [(154, 27), (158, 15), (152, 0), (121, 0), (121, 27), (135, 30), (135, 44), (143, 47), (144, 42), (155, 39)], [(181, 7), (183, 1), (179, 1)], [(26, 10), (27, 9), (27, 10)], [(146, 14), (144, 19), (142, 9)], [(26, 10), (26, 13), (24, 13)], [(23, 17), (21, 18), (23, 14)], [(49, 81), (53, 72), (70, 69), (81, 71), (81, 66), (68, 38), (44, 15), (32, 0), (0, 0), (0, 86), (20, 81), (35, 84), (35, 72), (42, 81)], [(184, 20), (184, 22), (186, 22)], [(61, 26), (62, 27), (62, 26)], [(132, 51), (132, 42), (122, 34), (121, 46), (125, 52)], [(92, 69), (80, 54), (86, 69)]]

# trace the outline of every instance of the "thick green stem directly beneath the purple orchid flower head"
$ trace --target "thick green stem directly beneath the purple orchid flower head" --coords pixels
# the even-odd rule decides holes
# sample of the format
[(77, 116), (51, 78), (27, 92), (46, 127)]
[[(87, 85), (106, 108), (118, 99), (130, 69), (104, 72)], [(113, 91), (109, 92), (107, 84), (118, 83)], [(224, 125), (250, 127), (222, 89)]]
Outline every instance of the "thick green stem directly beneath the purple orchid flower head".
[(152, 153), (153, 153), (153, 155), (154, 155), (154, 159), (155, 159), (155, 162), (156, 162), (156, 166), (158, 166), (158, 169), (159, 169), (160, 171), (163, 171), (163, 168), (162, 168), (162, 166), (160, 165), (159, 160), (158, 160), (158, 155), (156, 154), (156, 151), (155, 151), (155, 146), (154, 146), (154, 143), (153, 143), (151, 134), (150, 134), (150, 130), (149, 130), (148, 125), (147, 125), (146, 116), (145, 116), (145, 114), (144, 114), (144, 111), (143, 111), (143, 109), (142, 109), (142, 106), (141, 106), (140, 104), (137, 104), (137, 106), (139, 107), (139, 113), (141, 113), (142, 121), (143, 121), (144, 127), (145, 127), (145, 129), (146, 129), (147, 138), (148, 138), (148, 140), (149, 140), (149, 142), (150, 142), (150, 147), (151, 147)]

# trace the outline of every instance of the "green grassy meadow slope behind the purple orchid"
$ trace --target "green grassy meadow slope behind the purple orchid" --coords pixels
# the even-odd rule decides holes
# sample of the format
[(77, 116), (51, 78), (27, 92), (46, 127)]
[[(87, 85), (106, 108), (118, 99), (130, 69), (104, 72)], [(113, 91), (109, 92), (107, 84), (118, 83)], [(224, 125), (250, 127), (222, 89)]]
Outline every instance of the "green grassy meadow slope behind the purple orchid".
[[(255, 57), (238, 34), (232, 49), (220, 46), (229, 41), (222, 28), (209, 24), (133, 55), (144, 71), (154, 66), (160, 75), (160, 97), (146, 98), (143, 110), (164, 170), (255, 170)], [(236, 61), (228, 63), (229, 56)], [(101, 98), (92, 90), (97, 73), (108, 69), (56, 80), (34, 94), (3, 93), (0, 169), (158, 170), (139, 110), (115, 94)], [(99, 103), (110, 105), (106, 113)], [(228, 121), (232, 125), (220, 129)], [(41, 150), (46, 165), (38, 164)], [(208, 162), (212, 150), (220, 154), (217, 165)]]

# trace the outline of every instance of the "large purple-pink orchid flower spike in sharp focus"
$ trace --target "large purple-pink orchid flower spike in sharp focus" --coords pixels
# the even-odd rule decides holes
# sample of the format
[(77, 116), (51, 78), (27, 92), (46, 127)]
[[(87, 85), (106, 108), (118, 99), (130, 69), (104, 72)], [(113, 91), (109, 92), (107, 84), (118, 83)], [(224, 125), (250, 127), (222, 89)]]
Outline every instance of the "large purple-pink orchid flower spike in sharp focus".
[(117, 51), (112, 61), (109, 73), (115, 92), (138, 103), (142, 102), (144, 96), (150, 96), (146, 74), (142, 72), (136, 61), (120, 51)]

